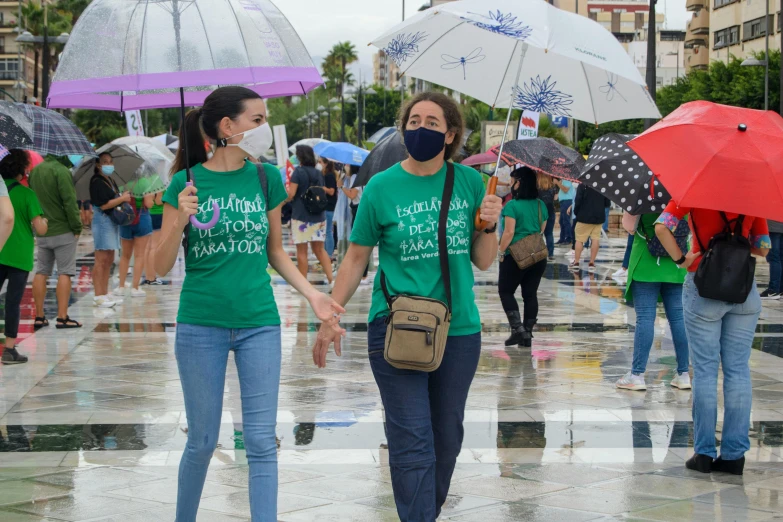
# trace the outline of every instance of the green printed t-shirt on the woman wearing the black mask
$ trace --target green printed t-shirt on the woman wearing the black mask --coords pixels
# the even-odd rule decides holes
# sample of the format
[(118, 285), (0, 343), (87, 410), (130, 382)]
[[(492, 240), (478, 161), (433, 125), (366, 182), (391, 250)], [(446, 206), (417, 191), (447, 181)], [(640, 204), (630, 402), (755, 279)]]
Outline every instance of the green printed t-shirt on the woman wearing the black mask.
[[(473, 293), (473, 217), (484, 198), (481, 175), (454, 165), (454, 194), (449, 208), (448, 252), (453, 298), (449, 335), (481, 331)], [(446, 182), (446, 166), (432, 176), (414, 176), (397, 164), (376, 174), (364, 189), (351, 242), (379, 245), (380, 268), (392, 295), (407, 294), (446, 302), (438, 260), (438, 219)], [(388, 315), (375, 278), (369, 320)]]

